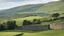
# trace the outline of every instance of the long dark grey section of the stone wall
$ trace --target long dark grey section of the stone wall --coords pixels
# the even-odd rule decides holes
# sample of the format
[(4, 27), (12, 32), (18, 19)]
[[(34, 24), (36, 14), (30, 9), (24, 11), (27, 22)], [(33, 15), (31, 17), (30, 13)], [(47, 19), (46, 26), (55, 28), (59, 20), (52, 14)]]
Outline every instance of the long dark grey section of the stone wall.
[(39, 26), (19, 26), (19, 30), (27, 30), (27, 31), (41, 31), (41, 30), (49, 30), (50, 25), (39, 25)]

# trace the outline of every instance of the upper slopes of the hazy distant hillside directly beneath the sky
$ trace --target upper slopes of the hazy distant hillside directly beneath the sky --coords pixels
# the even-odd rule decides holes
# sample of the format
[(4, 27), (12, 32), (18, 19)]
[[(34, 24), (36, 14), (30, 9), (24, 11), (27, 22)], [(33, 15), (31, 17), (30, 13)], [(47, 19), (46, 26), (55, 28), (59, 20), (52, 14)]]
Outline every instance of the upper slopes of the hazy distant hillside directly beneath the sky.
[(0, 14), (11, 14), (19, 12), (64, 12), (64, 2), (50, 2), (47, 4), (31, 4), (18, 6), (4, 11), (0, 11)]

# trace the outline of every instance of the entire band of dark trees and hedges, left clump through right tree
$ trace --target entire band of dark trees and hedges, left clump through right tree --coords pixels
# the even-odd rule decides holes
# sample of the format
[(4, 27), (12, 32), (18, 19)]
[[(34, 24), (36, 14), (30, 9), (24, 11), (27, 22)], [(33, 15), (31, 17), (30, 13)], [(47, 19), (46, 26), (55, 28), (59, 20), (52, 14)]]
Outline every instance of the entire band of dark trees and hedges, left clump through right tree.
[[(41, 24), (42, 22), (51, 22), (51, 21), (55, 21), (55, 20), (59, 20), (59, 19), (64, 19), (64, 17), (59, 17), (60, 14), (59, 13), (54, 13), (51, 15), (51, 17), (53, 17), (54, 19), (49, 19), (49, 20), (42, 20), (41, 19), (33, 19), (33, 21), (29, 21), (29, 20), (23, 20), (22, 25), (32, 25), (32, 24)], [(0, 23), (0, 31), (2, 30), (14, 30), (18, 27), (18, 25), (16, 25), (16, 21), (12, 20), (12, 21), (7, 21), (7, 22), (3, 22)]]

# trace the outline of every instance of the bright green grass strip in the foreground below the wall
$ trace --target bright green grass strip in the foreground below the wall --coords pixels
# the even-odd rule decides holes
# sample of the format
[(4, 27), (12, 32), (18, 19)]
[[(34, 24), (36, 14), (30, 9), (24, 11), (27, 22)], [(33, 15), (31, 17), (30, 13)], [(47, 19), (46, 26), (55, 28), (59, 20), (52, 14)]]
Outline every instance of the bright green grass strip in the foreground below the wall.
[(40, 32), (0, 32), (0, 36), (14, 36), (24, 33), (23, 36), (64, 36), (64, 30), (47, 30)]

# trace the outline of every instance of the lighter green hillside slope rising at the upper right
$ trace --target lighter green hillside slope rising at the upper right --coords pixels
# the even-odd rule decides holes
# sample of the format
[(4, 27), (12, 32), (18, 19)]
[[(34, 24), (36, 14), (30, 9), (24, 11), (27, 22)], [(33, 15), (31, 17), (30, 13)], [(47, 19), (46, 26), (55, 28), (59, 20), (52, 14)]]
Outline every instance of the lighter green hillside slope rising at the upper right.
[(58, 1), (58, 2), (50, 2), (47, 3), (45, 6), (39, 8), (37, 12), (63, 12), (64, 13), (64, 2)]

